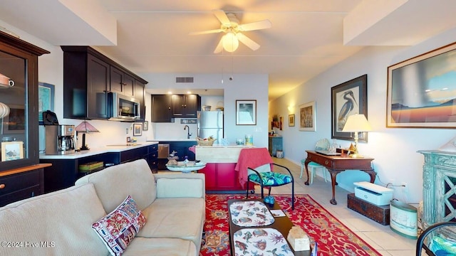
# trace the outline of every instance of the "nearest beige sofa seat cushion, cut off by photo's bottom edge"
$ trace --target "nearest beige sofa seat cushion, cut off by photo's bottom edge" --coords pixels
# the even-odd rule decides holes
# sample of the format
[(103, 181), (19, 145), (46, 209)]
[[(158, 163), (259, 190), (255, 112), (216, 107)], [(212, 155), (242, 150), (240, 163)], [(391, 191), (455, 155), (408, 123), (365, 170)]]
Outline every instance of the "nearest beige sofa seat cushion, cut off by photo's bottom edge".
[(154, 255), (154, 256), (195, 256), (199, 251), (190, 240), (179, 238), (135, 238), (123, 256)]

